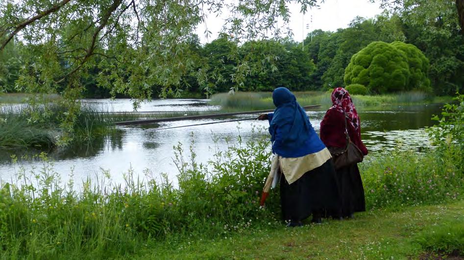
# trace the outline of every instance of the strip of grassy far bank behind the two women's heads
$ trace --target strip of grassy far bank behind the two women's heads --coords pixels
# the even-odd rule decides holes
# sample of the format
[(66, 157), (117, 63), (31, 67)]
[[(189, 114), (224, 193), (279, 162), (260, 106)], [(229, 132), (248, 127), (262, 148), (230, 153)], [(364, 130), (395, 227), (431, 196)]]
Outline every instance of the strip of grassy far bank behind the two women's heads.
[[(294, 92), (301, 106), (322, 105), (328, 108), (332, 105), (329, 92), (305, 91)], [(431, 104), (446, 103), (452, 97), (430, 96), (422, 92), (403, 92), (388, 95), (352, 95), (357, 107), (401, 105), (401, 104)], [(271, 92), (236, 92), (235, 94), (219, 93), (211, 97), (211, 105), (220, 105), (224, 109), (254, 110), (272, 109)]]

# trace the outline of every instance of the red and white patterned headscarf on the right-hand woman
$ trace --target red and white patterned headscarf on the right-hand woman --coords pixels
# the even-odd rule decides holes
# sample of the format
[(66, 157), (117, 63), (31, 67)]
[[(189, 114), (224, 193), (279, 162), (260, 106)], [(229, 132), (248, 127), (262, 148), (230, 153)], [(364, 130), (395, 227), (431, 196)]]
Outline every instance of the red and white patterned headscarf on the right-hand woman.
[(345, 112), (347, 116), (347, 123), (350, 123), (351, 126), (359, 131), (360, 120), (358, 112), (354, 107), (353, 101), (351, 100), (350, 94), (343, 87), (337, 87), (332, 92), (332, 104), (334, 104), (330, 109), (336, 109), (340, 112)]

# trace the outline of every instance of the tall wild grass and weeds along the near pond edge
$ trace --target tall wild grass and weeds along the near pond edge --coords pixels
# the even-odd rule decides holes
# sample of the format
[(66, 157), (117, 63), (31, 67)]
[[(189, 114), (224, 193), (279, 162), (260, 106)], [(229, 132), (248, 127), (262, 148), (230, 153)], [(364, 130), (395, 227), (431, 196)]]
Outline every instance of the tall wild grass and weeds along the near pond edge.
[[(207, 164), (196, 162), (192, 144), (175, 147), (178, 187), (167, 175), (147, 182), (129, 171), (125, 184), (106, 184), (103, 171), (96, 182), (86, 180), (76, 191), (63, 185), (53, 163), (41, 155), (37, 172), (16, 169), (13, 183), (3, 182), (0, 196), (0, 254), (2, 258), (112, 258), (137, 252), (147, 240), (224, 236), (275, 224), (279, 216), (278, 189), (266, 209), (259, 196), (269, 173), (269, 141), (260, 131), (240, 137), (226, 152)], [(361, 165), (367, 208), (440, 203), (462, 198), (463, 150), (417, 155), (391, 152), (367, 158)], [(16, 158), (13, 158), (15, 163)], [(71, 173), (72, 174), (72, 173)]]

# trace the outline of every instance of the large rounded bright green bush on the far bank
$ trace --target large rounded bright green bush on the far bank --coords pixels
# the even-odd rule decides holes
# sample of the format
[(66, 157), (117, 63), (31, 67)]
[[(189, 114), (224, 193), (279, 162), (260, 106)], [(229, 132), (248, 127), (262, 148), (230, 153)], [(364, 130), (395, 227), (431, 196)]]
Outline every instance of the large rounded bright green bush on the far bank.
[(429, 90), (428, 60), (412, 44), (373, 42), (351, 57), (346, 85), (362, 84), (375, 93)]

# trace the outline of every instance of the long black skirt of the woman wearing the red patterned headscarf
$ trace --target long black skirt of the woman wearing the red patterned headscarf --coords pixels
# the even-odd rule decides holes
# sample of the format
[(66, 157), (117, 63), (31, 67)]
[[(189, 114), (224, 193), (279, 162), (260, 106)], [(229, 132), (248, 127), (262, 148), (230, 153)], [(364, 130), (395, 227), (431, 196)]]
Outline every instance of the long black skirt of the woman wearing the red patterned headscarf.
[(337, 181), (342, 195), (342, 217), (348, 217), (355, 212), (366, 211), (363, 181), (358, 164), (343, 167), (337, 172)]

